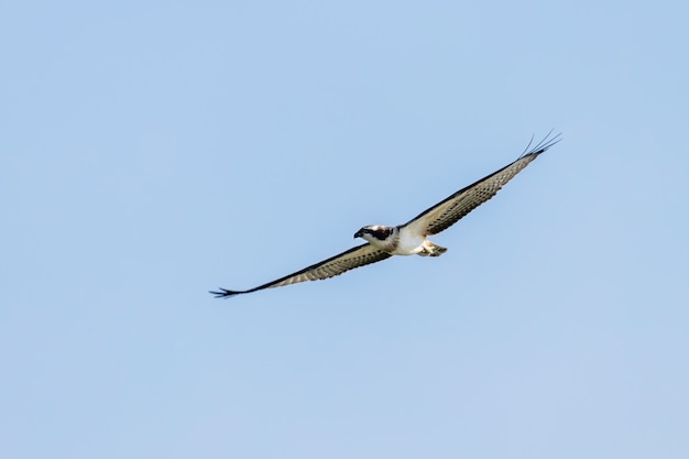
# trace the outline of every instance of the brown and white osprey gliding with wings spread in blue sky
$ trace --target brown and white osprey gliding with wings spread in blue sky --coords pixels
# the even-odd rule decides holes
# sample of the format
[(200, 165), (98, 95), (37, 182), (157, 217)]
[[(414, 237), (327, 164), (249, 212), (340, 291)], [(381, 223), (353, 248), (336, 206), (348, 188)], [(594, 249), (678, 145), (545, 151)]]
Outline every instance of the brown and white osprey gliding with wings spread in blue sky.
[(550, 134), (548, 133), (532, 150), (528, 150), (532, 144), (529, 142), (526, 146), (528, 151), (525, 151), (513, 163), (460, 189), (404, 225), (396, 227), (370, 225), (361, 228), (354, 233), (354, 239), (361, 238), (365, 240), (367, 243), (362, 245), (354, 247), (339, 255), (258, 287), (247, 291), (220, 288), (219, 292), (210, 293), (216, 295), (216, 297), (228, 297), (305, 281), (330, 278), (349, 270), (389, 259), (392, 255), (440, 256), (447, 252), (447, 249), (430, 242), (427, 237), (449, 228), (481, 204), (495, 196), (504, 184), (510, 182), (538, 155), (561, 140), (560, 134), (551, 139), (549, 136)]

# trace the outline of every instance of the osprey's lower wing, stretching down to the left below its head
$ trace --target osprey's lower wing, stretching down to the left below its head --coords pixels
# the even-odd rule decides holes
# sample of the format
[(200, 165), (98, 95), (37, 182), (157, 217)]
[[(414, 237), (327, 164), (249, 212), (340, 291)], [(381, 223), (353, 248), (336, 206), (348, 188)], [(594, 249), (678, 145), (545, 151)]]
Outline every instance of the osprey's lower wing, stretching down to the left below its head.
[(383, 252), (380, 249), (374, 248), (370, 243), (358, 245), (349, 249), (346, 252), (335, 255), (320, 263), (313, 264), (308, 267), (292, 273), (267, 284), (259, 285), (258, 287), (250, 288), (248, 291), (229, 291), (220, 288), (219, 292), (210, 292), (216, 295), (217, 298), (238, 295), (240, 293), (256, 292), (263, 288), (282, 287), (283, 285), (296, 284), (306, 281), (319, 281), (324, 278), (330, 278), (336, 275), (340, 275), (354, 267), (364, 266), (367, 264), (375, 263), (386, 258), (392, 256), (387, 252)]

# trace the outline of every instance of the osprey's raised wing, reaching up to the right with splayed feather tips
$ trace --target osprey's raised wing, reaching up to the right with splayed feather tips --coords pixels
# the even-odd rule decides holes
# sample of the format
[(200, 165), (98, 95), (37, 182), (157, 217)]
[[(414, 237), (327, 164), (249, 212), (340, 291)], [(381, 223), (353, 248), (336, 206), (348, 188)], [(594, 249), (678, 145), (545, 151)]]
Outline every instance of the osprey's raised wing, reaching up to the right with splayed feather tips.
[(540, 141), (532, 150), (525, 152), (512, 164), (508, 164), (500, 171), (496, 171), (491, 175), (469, 185), (468, 187), (460, 189), (441, 203), (424, 210), (418, 216), (404, 223), (403, 227), (408, 228), (416, 234), (428, 236), (437, 234), (455, 225), (467, 214), (495, 196), (503, 185), (510, 182), (532, 161), (538, 157), (539, 154), (544, 153), (550, 146), (560, 141), (560, 134), (557, 134), (551, 139), (548, 139), (550, 133), (548, 133), (543, 141)]

